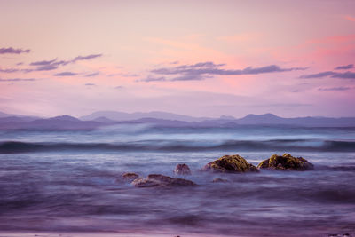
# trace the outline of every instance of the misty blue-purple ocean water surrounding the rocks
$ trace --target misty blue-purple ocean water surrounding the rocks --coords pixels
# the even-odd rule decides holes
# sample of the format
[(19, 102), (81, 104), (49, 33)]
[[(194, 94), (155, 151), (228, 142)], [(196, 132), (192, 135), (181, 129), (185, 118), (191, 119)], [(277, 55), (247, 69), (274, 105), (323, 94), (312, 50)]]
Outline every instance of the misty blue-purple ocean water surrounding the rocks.
[[(283, 153), (304, 157), (315, 170), (200, 171), (225, 154), (257, 165)], [(355, 234), (355, 128), (4, 130), (0, 163), (1, 231)], [(176, 177), (177, 163), (190, 166), (193, 175), (185, 178), (198, 186), (138, 188), (116, 181), (124, 172)]]

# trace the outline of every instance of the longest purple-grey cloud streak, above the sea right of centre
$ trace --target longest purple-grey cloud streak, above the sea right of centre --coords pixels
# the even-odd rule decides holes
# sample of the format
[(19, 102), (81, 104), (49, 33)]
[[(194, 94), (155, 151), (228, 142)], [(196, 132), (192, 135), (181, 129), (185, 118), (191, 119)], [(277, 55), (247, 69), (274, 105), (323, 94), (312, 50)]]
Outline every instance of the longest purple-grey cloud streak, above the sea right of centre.
[[(264, 73), (279, 73), (294, 70), (305, 70), (304, 67), (289, 67), (281, 68), (277, 65), (270, 65), (266, 67), (246, 67), (244, 69), (224, 69), (221, 68), (225, 64), (216, 64), (211, 61), (199, 62), (193, 65), (180, 65), (177, 67), (161, 67), (153, 69), (150, 72), (155, 75), (138, 80), (137, 82), (174, 82), (174, 81), (201, 81), (207, 78), (212, 78), (213, 75), (258, 75)], [(170, 77), (166, 77), (169, 76)], [(177, 75), (171, 77), (171, 75)]]

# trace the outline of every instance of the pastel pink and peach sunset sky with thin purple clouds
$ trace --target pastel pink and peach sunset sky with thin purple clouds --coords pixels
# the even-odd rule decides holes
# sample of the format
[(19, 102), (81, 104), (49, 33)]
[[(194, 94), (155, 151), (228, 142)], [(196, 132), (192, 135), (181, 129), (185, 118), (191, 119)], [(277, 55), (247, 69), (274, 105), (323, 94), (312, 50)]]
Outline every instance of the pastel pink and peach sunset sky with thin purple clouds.
[(355, 116), (355, 1), (0, 0), (0, 111)]

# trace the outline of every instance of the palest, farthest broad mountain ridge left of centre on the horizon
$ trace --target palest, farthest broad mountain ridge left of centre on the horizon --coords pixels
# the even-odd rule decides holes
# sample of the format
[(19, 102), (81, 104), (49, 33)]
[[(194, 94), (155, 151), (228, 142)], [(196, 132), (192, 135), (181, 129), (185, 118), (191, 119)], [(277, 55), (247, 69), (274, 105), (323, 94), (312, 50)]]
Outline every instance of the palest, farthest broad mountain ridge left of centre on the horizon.
[(207, 120), (207, 117), (193, 117), (188, 115), (177, 115), (167, 112), (160, 112), (160, 111), (153, 111), (153, 112), (136, 112), (136, 113), (124, 113), (124, 112), (117, 112), (117, 111), (98, 111), (92, 113), (91, 115), (85, 115), (80, 117), (81, 120), (95, 120), (99, 117), (106, 117), (107, 119), (114, 120), (114, 121), (130, 121), (130, 120), (137, 120), (141, 118), (156, 118), (156, 119), (163, 119), (163, 120), (178, 120), (178, 121), (185, 121), (185, 122), (201, 122)]

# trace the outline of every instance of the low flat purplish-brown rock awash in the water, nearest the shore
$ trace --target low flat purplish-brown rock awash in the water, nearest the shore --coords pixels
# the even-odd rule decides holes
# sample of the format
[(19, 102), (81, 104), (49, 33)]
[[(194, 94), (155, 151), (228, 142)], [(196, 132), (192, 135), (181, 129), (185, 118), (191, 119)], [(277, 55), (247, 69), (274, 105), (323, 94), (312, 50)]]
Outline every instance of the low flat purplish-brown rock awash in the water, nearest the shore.
[(184, 178), (172, 178), (169, 176), (152, 174), (147, 178), (138, 178), (133, 180), (133, 186), (137, 187), (177, 187), (177, 186), (196, 186), (193, 181)]

